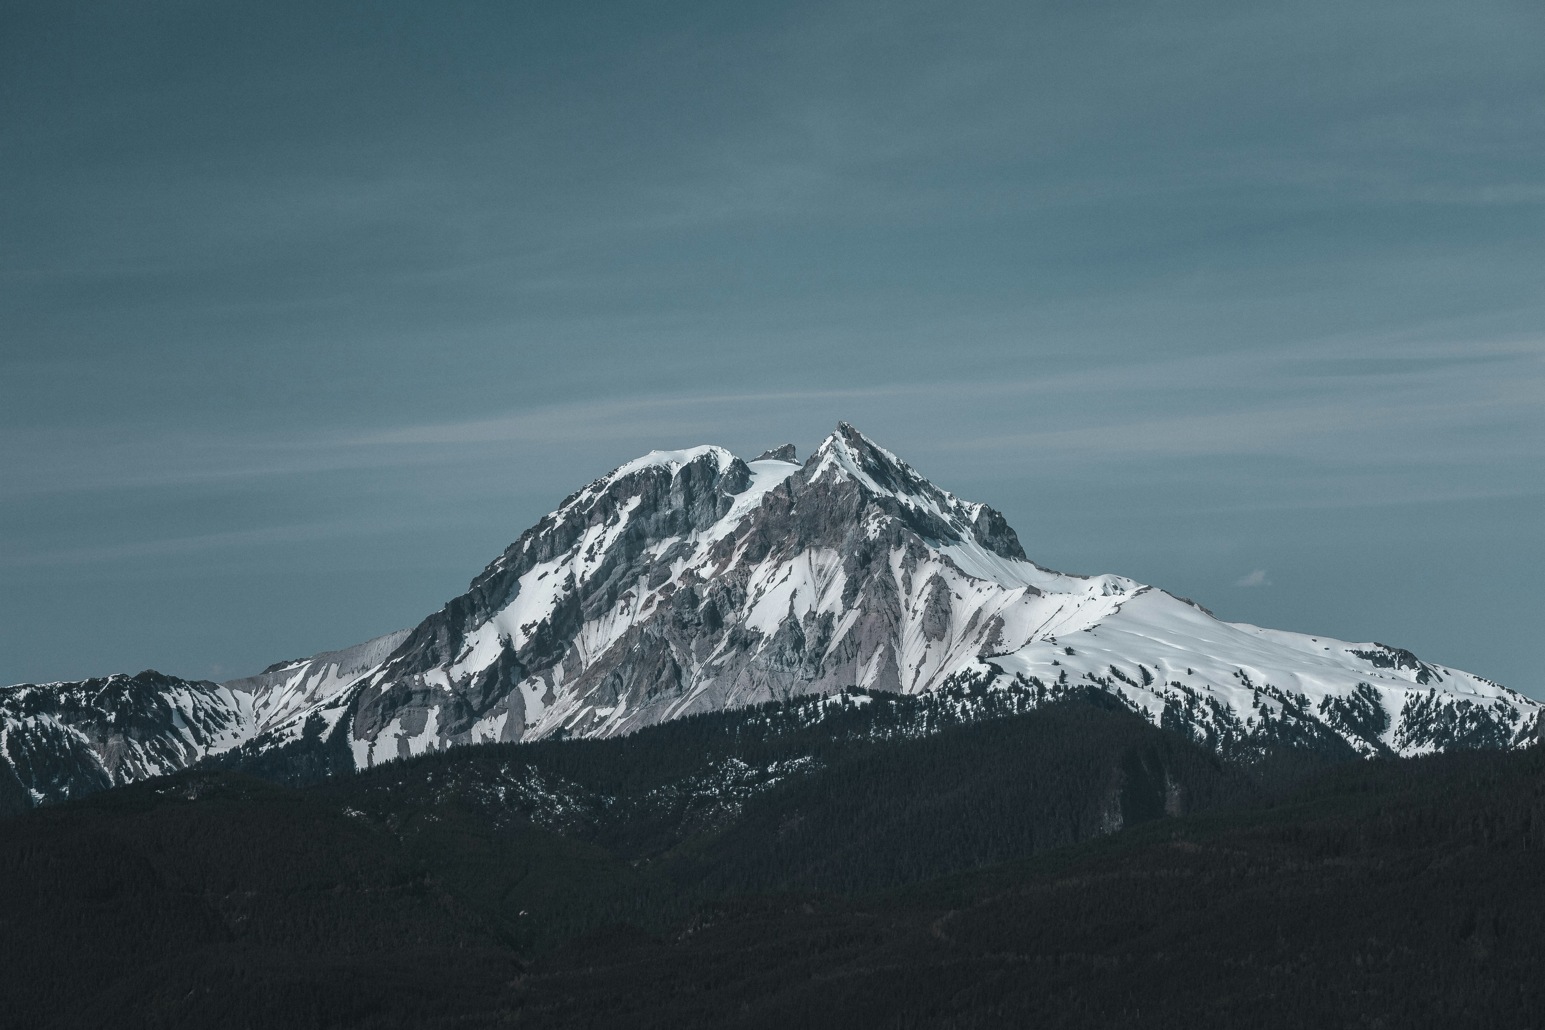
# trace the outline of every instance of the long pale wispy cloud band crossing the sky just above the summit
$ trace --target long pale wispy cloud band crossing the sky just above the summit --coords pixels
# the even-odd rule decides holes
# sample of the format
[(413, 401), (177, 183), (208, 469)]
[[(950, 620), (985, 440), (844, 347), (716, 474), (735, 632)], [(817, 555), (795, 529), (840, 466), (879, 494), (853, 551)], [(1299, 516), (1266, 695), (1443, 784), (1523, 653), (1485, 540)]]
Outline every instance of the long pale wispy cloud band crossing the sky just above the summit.
[[(15, 432), (3, 494), (261, 482), (362, 469), (388, 474), (443, 466), (448, 460), (484, 460), (482, 448), (510, 443), (649, 449), (722, 440), (726, 425), (765, 426), (782, 437), (793, 425), (827, 417), (822, 412), (864, 428), (867, 417), (884, 423), (907, 405), (961, 412), (912, 452), (955, 460), (1007, 452), (1021, 456), (1017, 465), (1023, 468), (1208, 456), (1292, 456), (1332, 465), (1378, 462), (1411, 468), (1475, 462), (1475, 434), (1488, 437), (1479, 459), (1483, 463), (1545, 460), (1540, 343), (1381, 344), (1350, 351), (1357, 357), (1349, 357), (1349, 347), (1338, 341), (1267, 355), (1072, 369), (1032, 380), (661, 394), (363, 432), (113, 432), (107, 440), (100, 431)], [(1329, 385), (1304, 394), (1298, 385), (1316, 375)], [(1174, 406), (1205, 414), (1159, 414)], [(973, 432), (983, 411), (1006, 415), (995, 420), (998, 425), (1020, 422), (1034, 428)], [(1417, 440), (1421, 446), (1412, 446)], [(447, 448), (462, 451), (448, 457)]]

